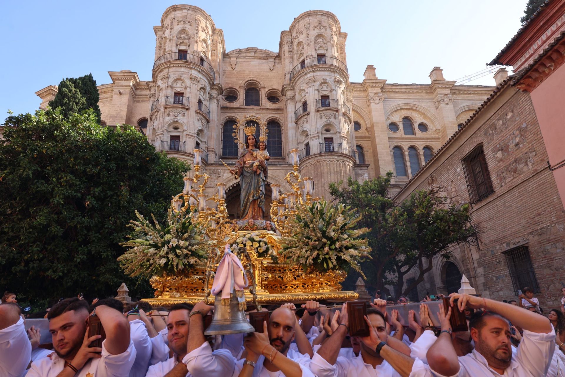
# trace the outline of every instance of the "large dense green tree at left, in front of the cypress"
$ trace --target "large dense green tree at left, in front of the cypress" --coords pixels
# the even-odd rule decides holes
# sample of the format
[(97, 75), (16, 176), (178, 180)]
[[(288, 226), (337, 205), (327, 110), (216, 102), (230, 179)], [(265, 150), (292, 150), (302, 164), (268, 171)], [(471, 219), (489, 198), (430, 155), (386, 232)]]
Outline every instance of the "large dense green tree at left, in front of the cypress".
[(0, 286), (29, 301), (105, 297), (122, 281), (151, 295), (146, 280), (123, 274), (120, 242), (135, 210), (166, 219), (188, 164), (156, 153), (132, 127), (98, 125), (92, 110), (8, 116), (4, 136)]

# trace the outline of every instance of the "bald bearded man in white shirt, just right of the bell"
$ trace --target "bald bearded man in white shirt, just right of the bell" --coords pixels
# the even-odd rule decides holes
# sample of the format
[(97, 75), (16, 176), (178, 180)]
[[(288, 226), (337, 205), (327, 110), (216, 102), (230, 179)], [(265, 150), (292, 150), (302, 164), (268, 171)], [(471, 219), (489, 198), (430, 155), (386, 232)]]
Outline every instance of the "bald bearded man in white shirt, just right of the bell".
[[(298, 321), (288, 307), (279, 307), (264, 322), (263, 332), (253, 332), (245, 338), (245, 360), (236, 364), (239, 377), (314, 377), (308, 364), (310, 357), (287, 357)], [(237, 373), (234, 373), (237, 375)]]

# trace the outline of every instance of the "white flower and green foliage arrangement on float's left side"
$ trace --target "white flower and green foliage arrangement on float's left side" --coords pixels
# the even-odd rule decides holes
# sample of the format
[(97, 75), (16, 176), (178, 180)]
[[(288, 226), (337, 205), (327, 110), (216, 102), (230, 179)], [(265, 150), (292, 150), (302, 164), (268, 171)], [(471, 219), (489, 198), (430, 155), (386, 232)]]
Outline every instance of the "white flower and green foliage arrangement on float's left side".
[(134, 229), (128, 235), (131, 240), (122, 243), (128, 250), (118, 258), (129, 276), (176, 274), (207, 258), (206, 228), (185, 209), (177, 212), (171, 204), (165, 226), (160, 226), (153, 214), (153, 224), (137, 211), (136, 216), (138, 221), (131, 220), (128, 225)]

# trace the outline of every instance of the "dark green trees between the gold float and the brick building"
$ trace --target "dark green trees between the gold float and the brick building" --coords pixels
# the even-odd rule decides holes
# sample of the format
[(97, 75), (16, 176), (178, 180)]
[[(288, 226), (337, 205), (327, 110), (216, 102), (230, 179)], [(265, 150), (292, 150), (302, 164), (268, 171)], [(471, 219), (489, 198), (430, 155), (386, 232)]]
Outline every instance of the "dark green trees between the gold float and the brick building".
[[(473, 225), (468, 204), (448, 204), (440, 190), (416, 190), (401, 203), (389, 194), (392, 172), (363, 183), (351, 178), (347, 188), (342, 182), (330, 185), (334, 200), (357, 208), (362, 220), (359, 227), (370, 227), (367, 233), (372, 259), (362, 268), (367, 286), (390, 294), (385, 285), (396, 285), (396, 292), (408, 294), (433, 268), (433, 258), (449, 259), (453, 246), (476, 244), (477, 229)], [(416, 280), (404, 286), (404, 276), (416, 268)], [(358, 275), (351, 273), (346, 284)]]

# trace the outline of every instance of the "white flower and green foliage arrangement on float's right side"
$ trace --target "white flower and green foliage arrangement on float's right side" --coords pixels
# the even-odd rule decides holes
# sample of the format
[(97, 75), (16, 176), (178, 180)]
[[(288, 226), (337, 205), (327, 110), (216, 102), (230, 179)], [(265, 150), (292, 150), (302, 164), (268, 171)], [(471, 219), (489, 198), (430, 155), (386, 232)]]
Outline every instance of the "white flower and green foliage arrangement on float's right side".
[(305, 270), (353, 268), (363, 274), (359, 263), (368, 258), (371, 248), (366, 239), (360, 238), (369, 229), (356, 227), (359, 220), (354, 210), (341, 203), (332, 205), (321, 200), (311, 206), (298, 206), (298, 213), (289, 224), (292, 237), (282, 239), (282, 257)]

